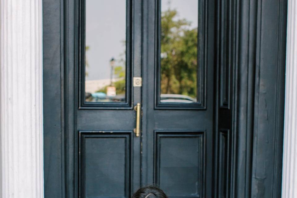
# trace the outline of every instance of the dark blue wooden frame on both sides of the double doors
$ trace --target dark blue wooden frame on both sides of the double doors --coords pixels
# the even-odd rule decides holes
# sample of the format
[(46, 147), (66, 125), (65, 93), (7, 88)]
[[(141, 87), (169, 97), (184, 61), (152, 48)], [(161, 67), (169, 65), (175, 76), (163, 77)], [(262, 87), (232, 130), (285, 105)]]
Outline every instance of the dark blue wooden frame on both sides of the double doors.
[[(216, 1), (214, 197), (281, 197), (286, 0)], [(45, 197), (75, 197), (75, 1), (43, 1)], [(73, 79), (73, 78), (71, 78)]]

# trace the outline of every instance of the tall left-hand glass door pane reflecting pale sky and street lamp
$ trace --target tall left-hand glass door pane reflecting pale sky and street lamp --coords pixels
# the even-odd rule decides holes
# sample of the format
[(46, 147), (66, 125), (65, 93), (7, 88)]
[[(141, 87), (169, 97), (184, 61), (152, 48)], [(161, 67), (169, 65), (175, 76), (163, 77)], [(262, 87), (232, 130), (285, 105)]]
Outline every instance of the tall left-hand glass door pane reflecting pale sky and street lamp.
[(85, 3), (85, 100), (125, 102), (126, 1)]

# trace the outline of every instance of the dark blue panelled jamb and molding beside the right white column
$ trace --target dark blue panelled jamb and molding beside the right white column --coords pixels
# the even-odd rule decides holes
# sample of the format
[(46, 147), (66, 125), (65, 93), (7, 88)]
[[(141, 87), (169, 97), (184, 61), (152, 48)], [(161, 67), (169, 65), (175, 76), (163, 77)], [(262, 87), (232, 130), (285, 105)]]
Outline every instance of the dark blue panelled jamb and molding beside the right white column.
[(215, 145), (223, 128), (232, 149), (222, 179), (216, 148), (215, 197), (281, 197), (286, 5), (217, 1)]

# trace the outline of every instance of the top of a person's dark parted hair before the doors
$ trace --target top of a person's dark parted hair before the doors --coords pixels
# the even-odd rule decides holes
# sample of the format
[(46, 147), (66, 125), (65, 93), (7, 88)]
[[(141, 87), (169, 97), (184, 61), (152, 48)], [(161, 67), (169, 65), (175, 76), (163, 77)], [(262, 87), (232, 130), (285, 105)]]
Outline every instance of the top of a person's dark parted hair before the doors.
[(132, 198), (167, 198), (167, 196), (160, 188), (149, 185), (139, 188)]

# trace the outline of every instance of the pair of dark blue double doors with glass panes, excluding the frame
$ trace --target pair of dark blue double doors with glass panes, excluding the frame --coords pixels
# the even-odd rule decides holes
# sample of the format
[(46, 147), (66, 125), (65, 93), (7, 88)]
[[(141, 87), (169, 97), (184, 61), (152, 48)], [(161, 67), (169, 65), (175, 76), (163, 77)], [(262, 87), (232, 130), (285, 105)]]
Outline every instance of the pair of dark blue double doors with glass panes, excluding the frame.
[[(205, 1), (86, 0), (79, 6), (80, 197), (129, 197), (148, 183), (170, 197), (210, 197), (214, 70)], [(110, 9), (116, 14), (104, 12)], [(122, 57), (113, 41), (121, 34)], [(102, 48), (115, 55), (100, 55)], [(106, 66), (101, 58), (110, 58)], [(107, 84), (99, 75), (110, 75)]]

